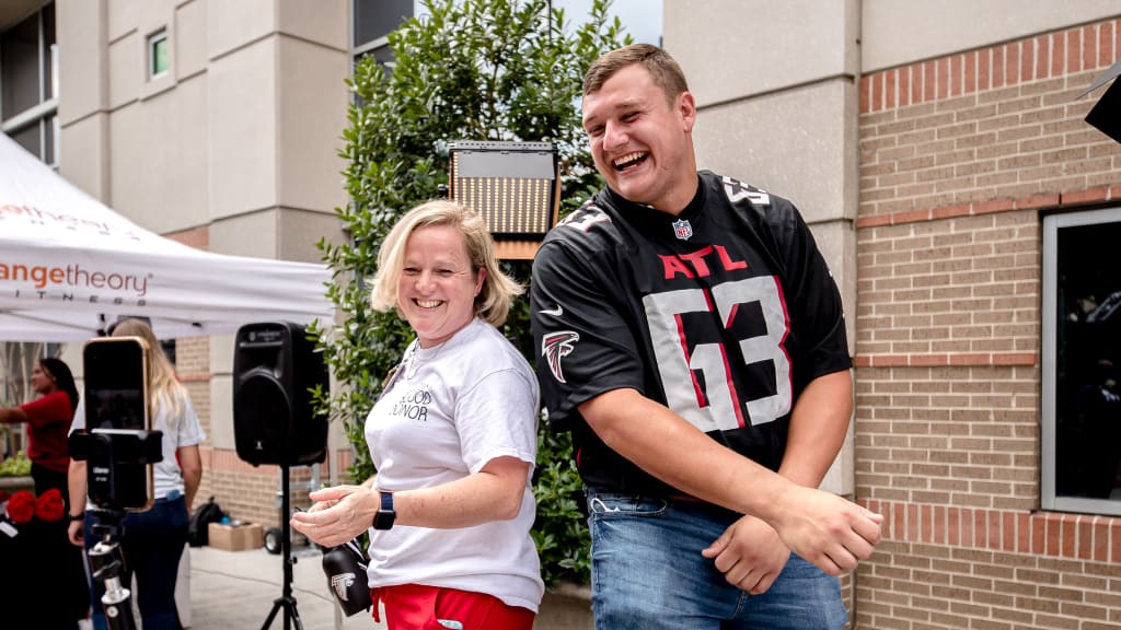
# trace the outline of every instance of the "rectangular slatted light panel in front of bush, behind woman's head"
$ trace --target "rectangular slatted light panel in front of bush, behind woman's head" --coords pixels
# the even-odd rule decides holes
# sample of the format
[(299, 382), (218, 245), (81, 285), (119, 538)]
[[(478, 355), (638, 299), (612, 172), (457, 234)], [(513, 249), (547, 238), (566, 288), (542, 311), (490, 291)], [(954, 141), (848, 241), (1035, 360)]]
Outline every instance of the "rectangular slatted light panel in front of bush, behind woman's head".
[(451, 198), (482, 214), (499, 258), (529, 260), (560, 209), (560, 173), (553, 142), (456, 140)]

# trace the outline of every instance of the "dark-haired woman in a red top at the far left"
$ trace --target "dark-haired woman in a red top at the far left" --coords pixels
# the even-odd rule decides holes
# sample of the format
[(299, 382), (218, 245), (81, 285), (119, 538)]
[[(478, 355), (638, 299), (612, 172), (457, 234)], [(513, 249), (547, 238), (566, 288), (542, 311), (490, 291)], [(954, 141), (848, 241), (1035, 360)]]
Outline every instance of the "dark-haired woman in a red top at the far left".
[[(70, 470), (68, 435), (80, 399), (70, 365), (61, 359), (49, 356), (39, 359), (31, 369), (31, 389), (39, 395), (38, 398), (19, 407), (0, 407), (0, 423), (27, 423), (27, 456), (31, 460), (35, 494), (43, 497), (48, 490), (57, 490), (68, 510), (70, 506), (66, 503)], [(59, 585), (57, 592), (61, 595), (54, 603), (62, 604), (64, 609), (62, 617), (65, 620), (57, 623), (63, 623), (66, 628), (76, 628), (77, 620), (84, 619), (90, 609), (82, 550), (66, 541), (65, 520), (57, 524), (38, 524), (38, 527), (43, 530), (37, 532), (36, 540), (45, 545), (39, 549), (36, 559), (44, 563), (39, 568), (50, 567), (49, 574), (36, 580), (30, 573), (26, 573), (25, 578), (39, 584), (49, 580)], [(22, 544), (29, 544), (28, 540), (30, 537), (25, 536)], [(28, 572), (37, 571), (34, 566), (25, 568)], [(16, 571), (16, 568), (9, 566), (2, 571)]]

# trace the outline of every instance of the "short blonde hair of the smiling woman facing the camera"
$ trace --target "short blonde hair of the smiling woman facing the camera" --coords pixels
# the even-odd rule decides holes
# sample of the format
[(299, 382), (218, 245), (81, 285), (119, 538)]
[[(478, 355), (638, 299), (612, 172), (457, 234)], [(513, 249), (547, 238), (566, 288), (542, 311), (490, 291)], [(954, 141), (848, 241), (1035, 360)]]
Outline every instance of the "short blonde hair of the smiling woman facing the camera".
[(472, 278), (479, 277), (480, 269), (487, 270), (482, 289), (475, 296), (475, 315), (501, 326), (510, 312), (510, 302), (525, 289), (499, 267), (494, 241), (483, 217), (466, 206), (445, 200), (429, 201), (408, 211), (386, 235), (378, 251), (378, 272), (370, 281), (370, 305), (377, 311), (396, 309), (400, 315), (397, 282), (404, 271), (405, 245), (418, 228), (433, 225), (451, 225), (463, 234)]

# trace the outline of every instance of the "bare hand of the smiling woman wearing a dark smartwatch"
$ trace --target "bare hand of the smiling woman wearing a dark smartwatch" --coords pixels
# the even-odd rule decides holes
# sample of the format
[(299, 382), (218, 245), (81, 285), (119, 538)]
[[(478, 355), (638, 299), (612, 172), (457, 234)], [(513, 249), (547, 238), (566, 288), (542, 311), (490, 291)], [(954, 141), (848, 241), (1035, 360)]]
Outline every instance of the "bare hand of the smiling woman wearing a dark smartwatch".
[(291, 516), (291, 527), (324, 547), (342, 545), (369, 529), (378, 498), (364, 485), (335, 485), (312, 492), (306, 512)]

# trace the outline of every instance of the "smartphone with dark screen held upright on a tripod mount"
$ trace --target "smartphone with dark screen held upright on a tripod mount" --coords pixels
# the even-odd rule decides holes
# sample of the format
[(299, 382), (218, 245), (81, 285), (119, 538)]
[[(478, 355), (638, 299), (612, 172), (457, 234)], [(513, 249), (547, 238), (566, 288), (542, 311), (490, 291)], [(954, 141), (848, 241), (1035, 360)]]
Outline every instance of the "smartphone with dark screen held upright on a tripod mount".
[(105, 337), (85, 346), (85, 426), (147, 430), (148, 356), (139, 337)]

